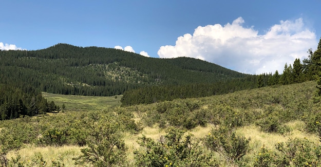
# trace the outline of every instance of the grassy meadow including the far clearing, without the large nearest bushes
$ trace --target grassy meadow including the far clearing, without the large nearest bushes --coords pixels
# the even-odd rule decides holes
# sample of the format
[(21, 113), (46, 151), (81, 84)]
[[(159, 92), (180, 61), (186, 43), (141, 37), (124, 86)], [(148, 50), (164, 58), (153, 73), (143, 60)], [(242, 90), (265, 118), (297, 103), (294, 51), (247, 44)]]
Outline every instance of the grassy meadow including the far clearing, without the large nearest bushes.
[[(54, 95), (44, 92), (43, 96), (48, 101), (54, 101), (60, 107), (65, 104), (66, 112), (53, 114), (50, 117), (1, 121), (0, 128), (3, 135), (9, 134), (6, 140), (3, 139), (4, 141), (18, 145), (7, 152), (7, 159), (16, 159), (20, 156), (20, 161), (24, 162), (25, 166), (31, 166), (40, 163), (39, 155), (41, 155), (46, 166), (62, 166), (62, 164), (75, 166), (73, 158), (82, 155), (81, 150), (88, 146), (92, 137), (91, 131), (103, 131), (104, 128), (99, 130), (96, 125), (115, 126), (120, 129), (117, 132), (121, 132), (121, 139), (127, 148), (126, 160), (123, 159), (123, 163), (116, 166), (138, 166), (134, 152), (144, 150), (139, 143), (143, 136), (157, 142), (171, 127), (184, 129), (182, 139), (189, 133), (192, 134), (192, 139), (196, 141), (194, 145), (200, 145), (204, 150), (203, 153), (206, 153), (210, 150), (206, 149), (204, 139), (210, 138), (212, 134), (214, 136), (216, 129), (226, 126), (236, 135), (250, 139), (249, 149), (237, 160), (227, 160), (228, 156), (222, 156), (220, 152), (214, 152), (212, 159), (221, 166), (262, 166), (256, 162), (260, 160), (262, 148), (275, 152), (274, 156), (280, 157), (288, 155), (279, 151), (276, 145), (287, 143), (289, 139), (307, 140), (315, 148), (320, 146), (319, 136), (315, 131), (318, 128), (317, 115), (320, 108), (320, 103), (313, 98), (315, 86), (315, 82), (305, 82), (128, 107), (120, 107), (121, 96), (115, 99), (115, 97)], [(19, 131), (19, 129), (24, 130)], [(17, 143), (15, 140), (20, 142)], [(230, 142), (229, 139), (224, 141)], [(289, 166), (301, 163), (294, 159), (288, 160)], [(307, 166), (319, 166), (318, 163), (321, 163), (317, 159), (310, 161), (309, 159), (313, 158), (307, 157), (302, 163)], [(143, 159), (140, 161), (143, 162)], [(278, 163), (273, 161), (267, 166)], [(172, 164), (175, 163), (168, 161), (164, 162), (163, 166)], [(82, 165), (85, 164), (80, 166)]]

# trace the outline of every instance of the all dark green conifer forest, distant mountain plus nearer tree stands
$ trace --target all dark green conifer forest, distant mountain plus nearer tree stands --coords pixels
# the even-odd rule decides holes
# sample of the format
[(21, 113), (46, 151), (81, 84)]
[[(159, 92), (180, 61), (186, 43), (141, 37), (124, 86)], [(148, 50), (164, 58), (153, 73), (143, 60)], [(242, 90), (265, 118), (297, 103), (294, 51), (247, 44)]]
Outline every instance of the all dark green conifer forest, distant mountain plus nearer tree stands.
[(321, 48), (308, 53), (303, 64), (296, 59), (293, 66), (285, 65), (281, 75), (275, 71), (256, 76), (193, 58), (147, 58), (103, 47), (57, 44), (41, 50), (0, 50), (0, 119), (56, 110), (58, 106), (48, 103), (41, 91), (84, 96), (123, 94), (122, 104), (133, 105), (313, 79), (321, 84)]

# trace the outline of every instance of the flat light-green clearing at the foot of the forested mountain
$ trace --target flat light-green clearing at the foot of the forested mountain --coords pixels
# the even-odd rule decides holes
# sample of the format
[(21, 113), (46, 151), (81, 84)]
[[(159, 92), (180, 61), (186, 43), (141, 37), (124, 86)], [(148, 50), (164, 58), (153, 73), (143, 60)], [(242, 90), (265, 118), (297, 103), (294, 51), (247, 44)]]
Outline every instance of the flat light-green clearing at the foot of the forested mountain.
[(47, 99), (48, 102), (54, 101), (54, 103), (60, 106), (60, 108), (62, 108), (62, 105), (65, 104), (66, 110), (70, 111), (95, 111), (120, 106), (120, 99), (122, 98), (122, 95), (110, 97), (97, 97), (58, 95), (49, 94), (47, 92), (42, 92), (42, 95)]

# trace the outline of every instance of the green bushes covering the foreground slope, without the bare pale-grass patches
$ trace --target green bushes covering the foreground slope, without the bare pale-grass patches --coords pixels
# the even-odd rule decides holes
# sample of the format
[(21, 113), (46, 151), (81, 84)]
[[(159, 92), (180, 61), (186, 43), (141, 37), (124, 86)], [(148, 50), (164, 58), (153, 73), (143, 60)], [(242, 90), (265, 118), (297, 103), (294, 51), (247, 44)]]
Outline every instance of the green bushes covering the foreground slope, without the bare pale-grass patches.
[[(9, 152), (31, 144), (79, 146), (80, 155), (72, 157), (79, 166), (318, 166), (318, 142), (293, 138), (274, 148), (262, 143), (257, 150), (253, 145), (257, 141), (237, 133), (238, 128), (254, 125), (262, 132), (287, 137), (292, 133), (287, 122), (298, 120), (305, 124), (302, 131), (319, 135), (320, 102), (314, 98), (315, 86), (316, 82), (310, 81), (206, 98), (1, 121), (1, 160), (24, 166), (66, 163), (63, 157), (45, 160), (38, 153), (29, 162), (18, 154), (7, 157)], [(209, 125), (213, 129), (201, 138), (190, 133), (195, 127)], [(165, 135), (157, 139), (142, 136), (147, 126), (164, 129)], [(126, 134), (138, 138), (138, 145), (130, 148), (132, 153), (128, 153)], [(128, 159), (129, 154), (134, 154), (132, 159)]]

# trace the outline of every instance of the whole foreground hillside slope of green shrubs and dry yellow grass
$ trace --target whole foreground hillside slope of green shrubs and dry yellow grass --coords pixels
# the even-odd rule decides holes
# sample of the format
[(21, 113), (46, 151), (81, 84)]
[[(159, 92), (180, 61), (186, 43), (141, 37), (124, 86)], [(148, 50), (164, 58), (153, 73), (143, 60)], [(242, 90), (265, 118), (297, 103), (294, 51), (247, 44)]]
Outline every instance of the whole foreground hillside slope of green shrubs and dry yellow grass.
[[(85, 149), (96, 145), (101, 148), (108, 147), (109, 145), (105, 143), (109, 142), (97, 143), (95, 139), (110, 134), (117, 135), (112, 137), (117, 137), (117, 141), (128, 147), (128, 150), (121, 150), (123, 157), (119, 163), (124, 166), (142, 166), (139, 163), (142, 160), (140, 157), (144, 157), (147, 162), (152, 160), (159, 162), (164, 158), (158, 157), (168, 157), (168, 161), (166, 158), (165, 161), (161, 161), (164, 163), (162, 166), (178, 160), (191, 162), (193, 157), (197, 158), (197, 155), (193, 154), (195, 152), (187, 152), (191, 158), (176, 159), (177, 156), (175, 156), (177, 153), (184, 153), (176, 152), (175, 149), (178, 148), (176, 145), (184, 144), (185, 141), (192, 141), (194, 148), (199, 148), (202, 155), (209, 157), (207, 160), (214, 160), (219, 164), (218, 166), (239, 164), (264, 166), (258, 162), (275, 164), (273, 166), (282, 166), (281, 163), (304, 166), (303, 162), (319, 164), (321, 147), (317, 132), (321, 129), (319, 124), (321, 114), (320, 102), (314, 99), (315, 92), (316, 82), (310, 81), (235, 91), (231, 94), (205, 98), (176, 99), (105, 110), (85, 109), (58, 113), (50, 117), (25, 117), (0, 121), (2, 132), (0, 146), (8, 148), (2, 152), (2, 156), (7, 157), (8, 163), (14, 162), (11, 156), (15, 158), (20, 154), (22, 157), (17, 161), (26, 166), (33, 162), (28, 160), (41, 156), (50, 166), (58, 162), (73, 166), (77, 161), (75, 158), (88, 153)], [(74, 100), (72, 96), (64, 96), (64, 98)], [(73, 101), (75, 105), (84, 102), (83, 99), (78, 99), (80, 101)], [(99, 105), (108, 104), (102, 100)], [(187, 131), (194, 136), (186, 138), (187, 133), (184, 136), (177, 135), (174, 139), (178, 141), (172, 146), (169, 145), (171, 143), (168, 140), (164, 140), (164, 137), (169, 139), (168, 132), (171, 129), (183, 129), (182, 132)], [(233, 134), (236, 136), (233, 137)], [(147, 144), (153, 151), (146, 152), (146, 145), (142, 142), (143, 135), (148, 139)], [(249, 144), (244, 144), (242, 141), (249, 137), (251, 137), (251, 140), (248, 140)], [(101, 140), (113, 139), (115, 138)], [(215, 141), (212, 143), (213, 147), (218, 143), (220, 147), (231, 145), (232, 149), (219, 154), (217, 150), (212, 149), (211, 145), (206, 145), (208, 139)], [(46, 150), (51, 150), (52, 146), (54, 146), (52, 152), (55, 154), (52, 152), (47, 154)], [(247, 147), (244, 155), (237, 160), (229, 158), (233, 151), (243, 149), (240, 146)], [(64, 150), (66, 147), (68, 150)], [(184, 145), (182, 148), (190, 147)], [(154, 149), (156, 149), (155, 152)], [(157, 152), (157, 150), (164, 152)], [(156, 153), (158, 155), (155, 155)], [(39, 154), (41, 155), (35, 157)], [(104, 152), (100, 155), (106, 154)], [(60, 158), (62, 155), (64, 159)], [(294, 157), (290, 157), (292, 155)], [(304, 156), (305, 158), (300, 158)], [(41, 164), (40, 160), (35, 161), (34, 164)], [(216, 163), (211, 164), (214, 166)]]

